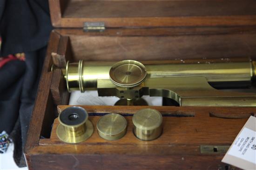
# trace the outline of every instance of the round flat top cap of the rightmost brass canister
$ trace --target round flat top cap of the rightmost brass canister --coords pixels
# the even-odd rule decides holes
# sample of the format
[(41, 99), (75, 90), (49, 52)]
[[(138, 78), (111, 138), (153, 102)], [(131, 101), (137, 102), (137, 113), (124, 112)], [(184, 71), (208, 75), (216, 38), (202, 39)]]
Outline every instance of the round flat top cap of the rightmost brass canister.
[(133, 124), (141, 130), (154, 130), (162, 125), (162, 114), (152, 108), (141, 109), (134, 114)]

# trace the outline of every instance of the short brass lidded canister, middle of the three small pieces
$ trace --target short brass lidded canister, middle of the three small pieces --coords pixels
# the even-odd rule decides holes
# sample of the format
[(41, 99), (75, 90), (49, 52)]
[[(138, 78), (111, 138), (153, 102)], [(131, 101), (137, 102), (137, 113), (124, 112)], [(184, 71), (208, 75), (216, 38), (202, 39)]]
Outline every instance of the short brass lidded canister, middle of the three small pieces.
[(120, 114), (110, 113), (97, 122), (98, 134), (106, 140), (121, 139), (127, 130), (127, 121)]

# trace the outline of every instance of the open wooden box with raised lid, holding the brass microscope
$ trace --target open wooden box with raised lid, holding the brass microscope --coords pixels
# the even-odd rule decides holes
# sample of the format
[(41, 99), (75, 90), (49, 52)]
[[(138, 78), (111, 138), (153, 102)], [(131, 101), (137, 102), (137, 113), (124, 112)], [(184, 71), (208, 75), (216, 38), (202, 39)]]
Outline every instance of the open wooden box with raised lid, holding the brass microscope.
[[(49, 5), (53, 25), (62, 28), (51, 33), (29, 126), (24, 152), (30, 170), (230, 168), (221, 159), (247, 118), (256, 115), (255, 107), (151, 107), (163, 114), (163, 133), (145, 142), (135, 138), (131, 122), (144, 107), (82, 106), (94, 124), (92, 137), (75, 145), (61, 142), (56, 118), (68, 107), (69, 93), (61, 70), (50, 71), (51, 54), (72, 62), (255, 59), (255, 0), (49, 0)], [(106, 30), (83, 31), (85, 22), (104, 22)], [(125, 116), (122, 139), (97, 134), (96, 121), (105, 113)]]

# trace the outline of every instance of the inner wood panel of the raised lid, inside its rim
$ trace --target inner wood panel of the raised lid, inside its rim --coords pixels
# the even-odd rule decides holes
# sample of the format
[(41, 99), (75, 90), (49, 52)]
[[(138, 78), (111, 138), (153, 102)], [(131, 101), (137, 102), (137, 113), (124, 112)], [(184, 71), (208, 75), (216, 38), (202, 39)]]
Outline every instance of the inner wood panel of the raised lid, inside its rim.
[(254, 0), (71, 0), (63, 18), (256, 15)]

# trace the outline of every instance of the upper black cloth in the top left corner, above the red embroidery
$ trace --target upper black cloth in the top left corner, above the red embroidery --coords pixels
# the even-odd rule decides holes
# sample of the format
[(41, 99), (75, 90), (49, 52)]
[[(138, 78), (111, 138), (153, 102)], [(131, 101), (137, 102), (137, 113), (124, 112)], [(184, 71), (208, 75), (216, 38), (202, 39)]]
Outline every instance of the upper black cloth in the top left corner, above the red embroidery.
[(48, 0), (0, 0), (0, 9), (0, 56), (47, 45), (52, 30)]

